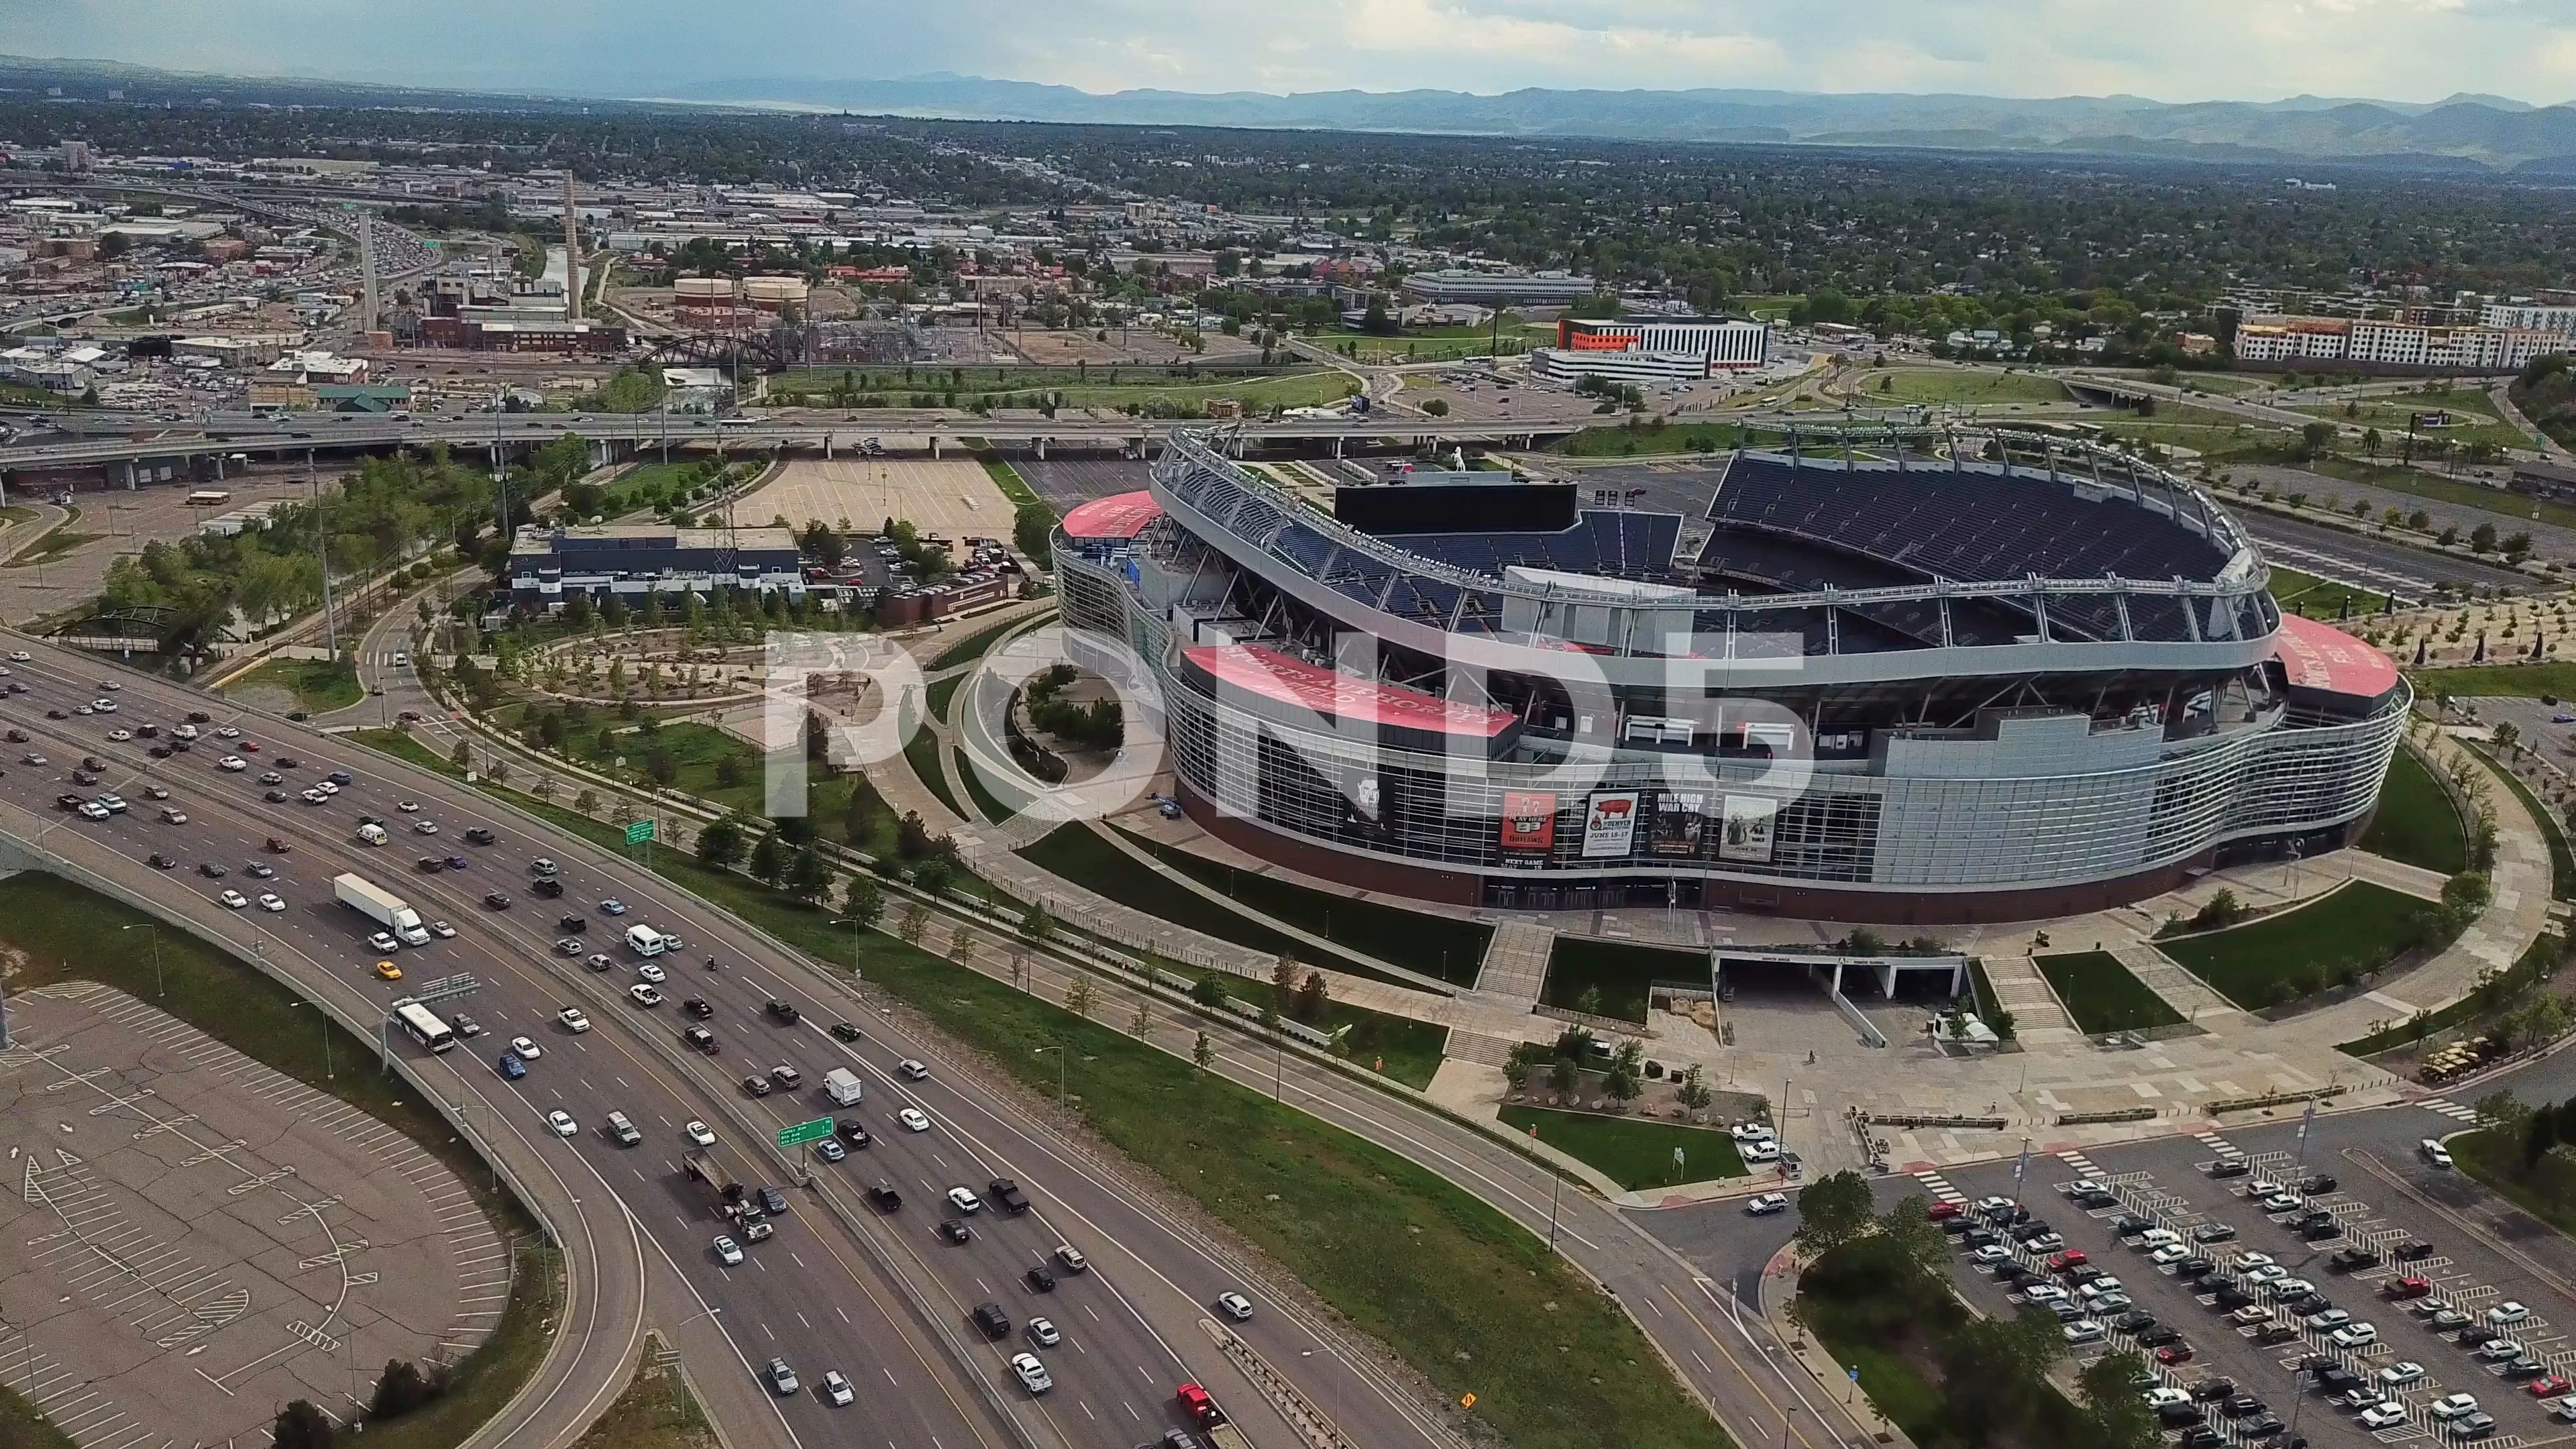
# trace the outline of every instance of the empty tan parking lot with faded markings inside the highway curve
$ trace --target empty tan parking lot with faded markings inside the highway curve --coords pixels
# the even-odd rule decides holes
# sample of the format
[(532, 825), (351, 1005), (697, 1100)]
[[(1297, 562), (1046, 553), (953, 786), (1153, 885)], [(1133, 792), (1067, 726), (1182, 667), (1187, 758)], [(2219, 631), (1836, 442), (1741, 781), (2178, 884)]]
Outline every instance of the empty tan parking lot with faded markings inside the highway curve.
[(507, 1243), (402, 1132), (93, 982), (8, 1013), (0, 1382), (80, 1449), (265, 1444), (500, 1323)]

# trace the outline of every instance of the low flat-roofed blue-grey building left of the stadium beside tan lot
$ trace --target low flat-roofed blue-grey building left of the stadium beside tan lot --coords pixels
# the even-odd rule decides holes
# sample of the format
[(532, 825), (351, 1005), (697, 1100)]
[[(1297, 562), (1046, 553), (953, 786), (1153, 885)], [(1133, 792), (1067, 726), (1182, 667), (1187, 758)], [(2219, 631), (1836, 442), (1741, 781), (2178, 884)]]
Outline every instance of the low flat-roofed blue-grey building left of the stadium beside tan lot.
[(788, 529), (675, 529), (670, 523), (587, 523), (520, 529), (510, 541), (510, 601), (549, 608), (567, 593), (744, 593), (804, 596), (796, 534)]

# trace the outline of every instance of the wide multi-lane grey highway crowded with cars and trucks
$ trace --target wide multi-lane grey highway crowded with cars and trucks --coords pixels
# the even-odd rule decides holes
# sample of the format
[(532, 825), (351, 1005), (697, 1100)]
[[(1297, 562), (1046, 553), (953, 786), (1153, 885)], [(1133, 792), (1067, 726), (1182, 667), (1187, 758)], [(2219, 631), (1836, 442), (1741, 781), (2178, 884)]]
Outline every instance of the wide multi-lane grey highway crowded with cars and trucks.
[[(860, 1395), (855, 1413), (832, 1410), (811, 1392), (775, 1400), (770, 1441), (1123, 1446), (1177, 1426), (1172, 1387), (1198, 1379), (1236, 1405), (1257, 1444), (1285, 1444), (1285, 1423), (1260, 1410), (1262, 1400), (1249, 1382), (1198, 1328), (1208, 1318), (1200, 1305), (1247, 1287), (1242, 1276), (1198, 1250), (1182, 1225), (1162, 1220), (1105, 1171), (1033, 1132), (1007, 1101), (956, 1073), (927, 1044), (889, 1036), (876, 1021), (863, 1042), (835, 1042), (827, 1034), (832, 1021), (868, 1018), (832, 993), (814, 967), (788, 959), (616, 856), (577, 841), (533, 841), (526, 820), (466, 789), (294, 724), (224, 709), (219, 722), (234, 719), (260, 750), (209, 737), (193, 753), (149, 761), (147, 740), (113, 745), (106, 743), (108, 727), (144, 719), (170, 727), (188, 709), (214, 712), (216, 701), (28, 639), (10, 645), (33, 657), (10, 665), (15, 676), (8, 681), (31, 686), (28, 694), (0, 706), (0, 722), (31, 735), (23, 745), (8, 745), (10, 753), (0, 758), (0, 802), (13, 807), (8, 833), (85, 864), (155, 910), (193, 918), (211, 910), (222, 936), (252, 938), (255, 954), (278, 975), (299, 985), (327, 977), (330, 990), (358, 993), (376, 1008), (404, 985), (368, 975), (379, 954), (363, 936), (374, 926), (330, 900), (330, 874), (361, 869), (404, 895), (422, 915), (453, 920), (456, 938), (392, 959), (407, 967), (410, 980), (477, 975), (482, 990), (448, 1011), (474, 1016), (484, 1034), (459, 1052), (415, 1065), (443, 1096), (474, 1104), (469, 1114), (484, 1111), (495, 1132), (518, 1140), (567, 1178), (567, 1196), (585, 1199), (598, 1189), (582, 1204), (582, 1222), (600, 1235), (621, 1222), (631, 1225), (626, 1232), (641, 1243), (641, 1253), (659, 1261), (649, 1266), (685, 1279), (698, 1299), (654, 1305), (644, 1315), (631, 1307), (618, 1315), (603, 1310), (603, 1320), (631, 1333), (639, 1320), (667, 1325), (711, 1315), (729, 1341), (729, 1372), (739, 1382), (750, 1382), (770, 1354), (783, 1354), (809, 1385), (824, 1369), (850, 1374)], [(124, 683), (113, 691), (121, 701), (113, 717), (46, 719), (49, 709), (98, 699), (100, 678)], [(216, 768), (227, 748), (242, 750), (237, 758), (255, 768)], [(52, 763), (21, 763), (28, 750)], [(52, 807), (54, 794), (67, 789), (70, 766), (85, 753), (111, 763), (100, 789), (124, 794), (129, 812), (85, 822)], [(283, 804), (268, 802), (263, 794), (273, 786), (260, 786), (258, 776), (281, 755), (299, 761), (294, 771), (278, 771), (294, 786), (327, 768), (345, 768), (353, 781), (327, 807), (307, 807), (294, 794)], [(144, 799), (155, 781), (173, 792), (167, 804), (191, 812), (188, 825), (157, 822), (157, 802)], [(399, 810), (407, 799), (420, 810)], [(361, 846), (353, 838), (361, 812), (384, 817), (397, 830), (397, 843)], [(404, 833), (417, 820), (435, 822), (438, 835)], [(497, 841), (469, 846), (469, 828), (495, 830)], [(294, 853), (265, 856), (260, 843), (268, 835), (289, 841)], [(471, 864), (464, 871), (428, 874), (412, 866), (420, 848), (456, 851)], [(155, 851), (167, 851), (178, 866), (155, 871), (144, 864)], [(559, 902), (528, 892), (528, 861), (538, 853), (562, 861), (559, 879), (567, 890)], [(278, 866), (278, 882), (245, 879), (245, 866), (263, 859)], [(224, 864), (229, 874), (222, 882), (204, 879), (193, 874), (201, 861)], [(242, 887), (245, 895), (278, 890), (289, 910), (227, 913), (209, 900), (222, 887)], [(510, 910), (487, 910), (482, 895), (489, 890), (510, 895)], [(608, 897), (623, 900), (629, 915), (616, 923), (603, 918), (598, 902)], [(613, 957), (611, 972), (587, 972), (551, 951), (559, 936), (554, 915), (564, 910), (590, 915), (590, 949)], [(688, 941), (683, 962), (690, 964), (672, 967), (670, 995), (703, 995), (714, 1006), (708, 1026), (721, 1044), (716, 1055), (680, 1049), (677, 1006), (647, 1011), (626, 998), (636, 962), (611, 944), (611, 926), (631, 920), (649, 920)], [(693, 964), (706, 954), (716, 954), (729, 969), (706, 972)], [(762, 1006), (773, 998), (796, 1003), (801, 1021), (786, 1026), (768, 1018)], [(554, 1013), (567, 1003), (587, 1011), (595, 1031), (562, 1029)], [(518, 1034), (536, 1039), (544, 1057), (531, 1062), (526, 1080), (507, 1083), (492, 1070), (492, 1057)], [(397, 1052), (412, 1055), (410, 1042), (397, 1042)], [(904, 1057), (933, 1062), (930, 1080), (902, 1080), (894, 1065)], [(804, 1093), (750, 1098), (737, 1085), (742, 1075), (778, 1062), (804, 1070)], [(778, 1235), (750, 1245), (742, 1269), (719, 1266), (711, 1240), (724, 1225), (680, 1173), (680, 1124), (703, 1119), (729, 1150), (757, 1163), (778, 1127), (824, 1114), (811, 1083), (829, 1065), (848, 1065), (866, 1078), (868, 1098), (842, 1116), (863, 1119), (876, 1142), (842, 1165), (819, 1165), (811, 1189), (791, 1189), (793, 1209)], [(902, 1132), (894, 1111), (904, 1104), (925, 1111), (933, 1129)], [(569, 1111), (580, 1134), (554, 1140), (546, 1129), (549, 1111)], [(608, 1111), (634, 1116), (647, 1132), (644, 1145), (621, 1150), (608, 1142), (600, 1132)], [(791, 1181), (788, 1163), (778, 1158), (762, 1171), (773, 1183)], [(948, 1212), (933, 1204), (951, 1186), (981, 1194), (994, 1176), (1015, 1176), (1038, 1209), (1023, 1220), (981, 1212), (974, 1243), (940, 1243), (933, 1227)], [(860, 1189), (878, 1178), (902, 1191), (902, 1212), (878, 1214), (863, 1204)], [(613, 1212), (595, 1212), (600, 1199), (613, 1201)], [(1092, 1271), (1064, 1274), (1051, 1294), (1030, 1292), (1020, 1281), (1023, 1269), (1056, 1243), (1077, 1243)], [(641, 1266), (634, 1276), (641, 1279)], [(914, 1294), (927, 1315), (912, 1307)], [(1064, 1343), (1043, 1351), (1056, 1377), (1051, 1395), (1025, 1395), (1005, 1369), (1005, 1354), (1025, 1348), (1025, 1341), (987, 1343), (966, 1323), (966, 1310), (987, 1299), (999, 1302), (1015, 1328), (1043, 1312), (1064, 1330)], [(1311, 1382), (1309, 1392), (1319, 1403), (1340, 1405), (1358, 1441), (1435, 1436), (1417, 1418), (1419, 1410), (1365, 1364), (1345, 1364), (1340, 1354), (1301, 1359), (1327, 1336), (1298, 1325), (1296, 1315), (1265, 1302), (1242, 1330), (1260, 1351), (1296, 1361), (1296, 1377)], [(708, 1379), (726, 1374), (726, 1366), (698, 1361), (696, 1372)], [(716, 1410), (724, 1413), (724, 1405)], [(737, 1428), (734, 1415), (724, 1418)]]

